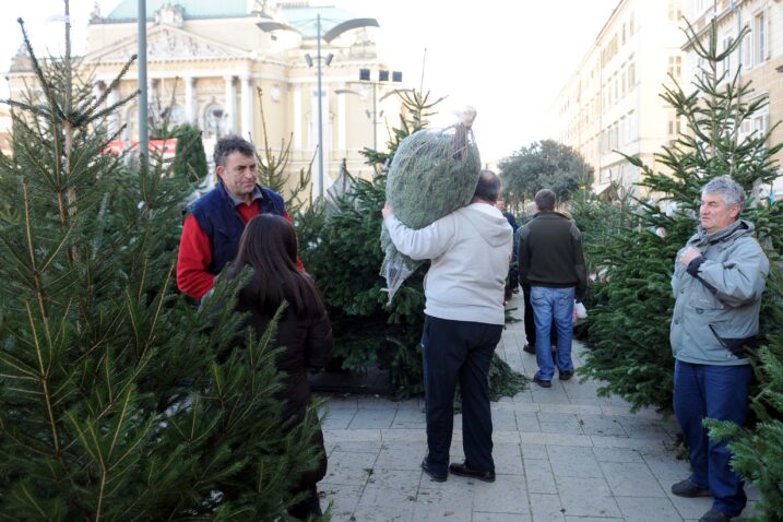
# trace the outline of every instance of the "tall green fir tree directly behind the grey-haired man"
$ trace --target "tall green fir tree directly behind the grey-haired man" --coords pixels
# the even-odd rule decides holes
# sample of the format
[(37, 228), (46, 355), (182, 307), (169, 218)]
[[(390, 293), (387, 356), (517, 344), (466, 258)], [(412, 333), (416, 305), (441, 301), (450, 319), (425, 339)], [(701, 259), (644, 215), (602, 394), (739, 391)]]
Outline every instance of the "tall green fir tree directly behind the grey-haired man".
[[(758, 188), (769, 187), (779, 174), (772, 157), (781, 144), (769, 143), (771, 130), (747, 132), (767, 98), (742, 81), (739, 69), (723, 68), (743, 35), (719, 51), (714, 21), (703, 38), (688, 28), (686, 37), (704, 64), (688, 92), (673, 79), (673, 86), (662, 95), (687, 130), (656, 154), (665, 173), (628, 157), (642, 171), (640, 186), (657, 201), (638, 200), (637, 218), (592, 252), (601, 275), (594, 286), (600, 304), (591, 311), (592, 349), (582, 373), (603, 381), (601, 393), (618, 394), (633, 408), (672, 407), (674, 361), (668, 332), (674, 298), (669, 281), (677, 250), (697, 229), (701, 188), (716, 176), (732, 176), (750, 197), (743, 218), (756, 224), (769, 257), (783, 248), (781, 206), (757, 198)], [(768, 288), (762, 335), (779, 328), (769, 320), (775, 299), (775, 289)]]

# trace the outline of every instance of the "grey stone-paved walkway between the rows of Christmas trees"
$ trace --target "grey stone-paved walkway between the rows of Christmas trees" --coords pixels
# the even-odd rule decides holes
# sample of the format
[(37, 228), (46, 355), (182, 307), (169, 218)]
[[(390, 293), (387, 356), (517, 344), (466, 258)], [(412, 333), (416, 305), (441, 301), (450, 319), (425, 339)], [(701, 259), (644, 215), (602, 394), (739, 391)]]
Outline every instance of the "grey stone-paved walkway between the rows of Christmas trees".
[[(521, 317), (521, 298), (514, 312)], [(535, 356), (522, 352), (522, 322), (498, 345), (509, 365), (532, 377)], [(574, 343), (573, 360), (584, 347)], [(419, 465), (426, 451), (424, 402), (332, 399), (323, 424), (329, 471), (319, 484), (332, 520), (447, 522), (695, 521), (709, 498), (669, 493), (688, 476), (671, 451), (677, 424), (654, 411), (629, 413), (618, 398), (598, 398), (596, 383), (553, 380), (493, 403), (497, 481), (454, 475), (435, 483)], [(452, 462), (462, 462), (461, 416), (454, 418)], [(752, 510), (758, 491), (744, 514)]]

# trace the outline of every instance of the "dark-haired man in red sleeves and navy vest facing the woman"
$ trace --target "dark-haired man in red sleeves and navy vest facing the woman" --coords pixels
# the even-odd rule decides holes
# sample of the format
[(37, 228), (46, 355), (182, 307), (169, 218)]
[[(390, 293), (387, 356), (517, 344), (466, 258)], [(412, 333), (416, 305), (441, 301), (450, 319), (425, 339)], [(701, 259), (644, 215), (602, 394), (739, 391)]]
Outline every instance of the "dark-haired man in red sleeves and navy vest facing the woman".
[(283, 198), (257, 183), (256, 149), (250, 142), (236, 135), (223, 138), (215, 144), (214, 158), (220, 181), (188, 206), (177, 257), (177, 286), (197, 300), (236, 258), (251, 217), (264, 213), (292, 221)]

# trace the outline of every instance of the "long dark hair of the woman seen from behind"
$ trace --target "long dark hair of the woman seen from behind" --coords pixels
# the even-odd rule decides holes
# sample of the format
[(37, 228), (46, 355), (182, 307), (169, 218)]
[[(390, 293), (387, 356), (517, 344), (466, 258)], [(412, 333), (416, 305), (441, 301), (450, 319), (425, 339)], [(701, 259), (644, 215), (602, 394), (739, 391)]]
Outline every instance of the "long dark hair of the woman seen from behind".
[(299, 272), (296, 251), (296, 233), (285, 217), (260, 214), (250, 220), (233, 265), (235, 274), (246, 265), (253, 269), (239, 302), (260, 307), (271, 316), (285, 299), (297, 317), (320, 318), (323, 300), (310, 276)]

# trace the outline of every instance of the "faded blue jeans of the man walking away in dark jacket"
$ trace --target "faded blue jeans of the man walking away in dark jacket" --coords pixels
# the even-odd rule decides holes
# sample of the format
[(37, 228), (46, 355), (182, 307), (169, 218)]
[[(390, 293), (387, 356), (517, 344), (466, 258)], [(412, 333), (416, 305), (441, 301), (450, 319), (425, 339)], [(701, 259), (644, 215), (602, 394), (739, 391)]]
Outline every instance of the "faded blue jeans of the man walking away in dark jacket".
[(555, 376), (549, 333), (553, 319), (557, 325), (557, 369), (573, 371), (571, 361), (571, 339), (573, 337), (573, 296), (576, 289), (531, 286), (530, 301), (535, 317), (535, 361), (536, 376), (550, 381)]

